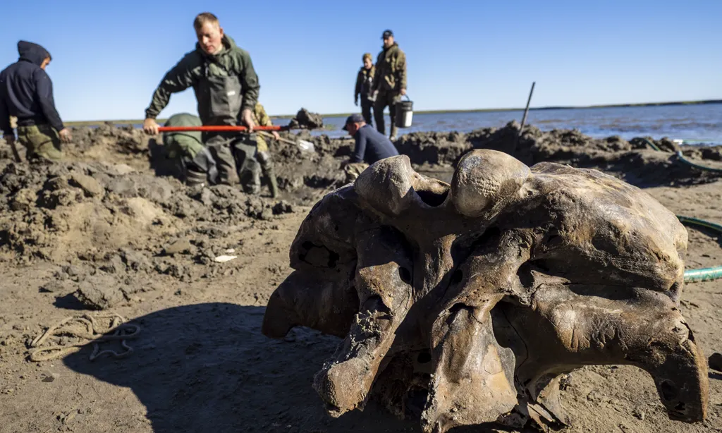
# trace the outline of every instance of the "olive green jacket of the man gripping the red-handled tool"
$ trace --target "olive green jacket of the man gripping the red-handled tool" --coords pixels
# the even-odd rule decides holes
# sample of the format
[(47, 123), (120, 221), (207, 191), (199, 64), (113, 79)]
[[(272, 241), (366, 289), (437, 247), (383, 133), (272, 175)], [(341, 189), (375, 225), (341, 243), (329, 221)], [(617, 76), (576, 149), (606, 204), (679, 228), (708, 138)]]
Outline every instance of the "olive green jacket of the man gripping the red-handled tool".
[[(258, 76), (253, 69), (251, 56), (248, 51), (239, 48), (228, 35), (223, 36), (223, 50), (220, 53), (206, 54), (199, 44), (196, 49), (186, 53), (181, 61), (173, 69), (170, 69), (153, 93), (150, 106), (145, 110), (146, 118), (156, 118), (157, 115), (168, 105), (170, 95), (183, 92), (188, 87), (193, 87), (204, 76), (204, 66), (208, 63), (208, 74), (217, 76), (228, 76), (237, 74), (240, 78), (243, 93), (241, 110), (251, 110), (258, 101), (258, 92), (261, 85), (258, 84)], [(199, 110), (202, 111), (202, 110)]]

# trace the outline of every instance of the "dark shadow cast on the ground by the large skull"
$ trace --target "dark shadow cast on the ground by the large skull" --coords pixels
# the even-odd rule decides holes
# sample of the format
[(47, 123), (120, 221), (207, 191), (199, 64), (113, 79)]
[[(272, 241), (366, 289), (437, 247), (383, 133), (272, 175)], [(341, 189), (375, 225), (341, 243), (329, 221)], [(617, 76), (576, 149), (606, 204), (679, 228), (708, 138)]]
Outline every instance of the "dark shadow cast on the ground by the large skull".
[(64, 362), (130, 388), (157, 433), (420, 431), (418, 421), (400, 421), (373, 403), (327, 416), (311, 383), (339, 340), (307, 328), (295, 328), (287, 341), (266, 338), (264, 311), (226, 303), (160, 310), (132, 321), (142, 331), (130, 357), (89, 362), (86, 347)]

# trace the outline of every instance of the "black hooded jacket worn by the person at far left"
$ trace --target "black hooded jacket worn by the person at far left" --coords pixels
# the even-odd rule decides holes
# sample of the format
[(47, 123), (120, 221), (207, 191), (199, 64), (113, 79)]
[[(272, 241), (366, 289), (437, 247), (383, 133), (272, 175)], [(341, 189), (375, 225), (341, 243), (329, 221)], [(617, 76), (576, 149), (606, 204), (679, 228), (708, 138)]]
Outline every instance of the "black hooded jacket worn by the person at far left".
[(21, 40), (17, 43), (20, 58), (0, 72), (0, 129), (12, 134), (10, 116), (17, 117), (18, 126), (49, 124), (56, 130), (64, 128), (53, 100), (53, 82), (40, 69), (50, 57), (45, 48)]

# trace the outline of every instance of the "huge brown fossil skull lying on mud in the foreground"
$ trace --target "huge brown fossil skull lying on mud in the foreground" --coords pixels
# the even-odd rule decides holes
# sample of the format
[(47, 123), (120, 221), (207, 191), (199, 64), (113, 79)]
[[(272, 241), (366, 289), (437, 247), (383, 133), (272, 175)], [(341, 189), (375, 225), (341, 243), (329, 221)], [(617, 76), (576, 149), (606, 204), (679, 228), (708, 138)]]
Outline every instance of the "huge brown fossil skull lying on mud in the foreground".
[[(569, 422), (560, 376), (631, 364), (671, 419), (705, 418), (705, 358), (679, 312), (687, 232), (648, 194), (595, 170), (477, 150), (451, 185), (377, 162), (310, 211), (266, 336), (344, 338), (315, 377), (332, 416), (425, 395), (425, 432)], [(419, 394), (420, 393), (420, 394)]]

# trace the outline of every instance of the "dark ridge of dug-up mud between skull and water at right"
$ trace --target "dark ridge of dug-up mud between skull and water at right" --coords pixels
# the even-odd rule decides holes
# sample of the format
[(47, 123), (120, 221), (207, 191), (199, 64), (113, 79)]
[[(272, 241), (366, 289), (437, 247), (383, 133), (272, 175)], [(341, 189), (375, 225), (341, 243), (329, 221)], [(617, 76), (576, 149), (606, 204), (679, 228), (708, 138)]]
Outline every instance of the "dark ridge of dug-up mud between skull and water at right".
[[(512, 154), (526, 165), (559, 162), (573, 167), (596, 168), (611, 172), (638, 186), (685, 185), (705, 183), (718, 174), (702, 172), (677, 161), (676, 152), (706, 164), (722, 160), (722, 147), (677, 146), (669, 139), (645, 139), (661, 152), (651, 149), (645, 139), (627, 141), (619, 136), (593, 139), (578, 130), (541, 131), (529, 126), (518, 139), (519, 125), (510, 122), (503, 128), (481, 128), (469, 134), (413, 133), (401, 136), (396, 148), (409, 155), (412, 164), (424, 169), (435, 165), (453, 167), (472, 149), (492, 149)], [(714, 166), (712, 164), (712, 166)]]

